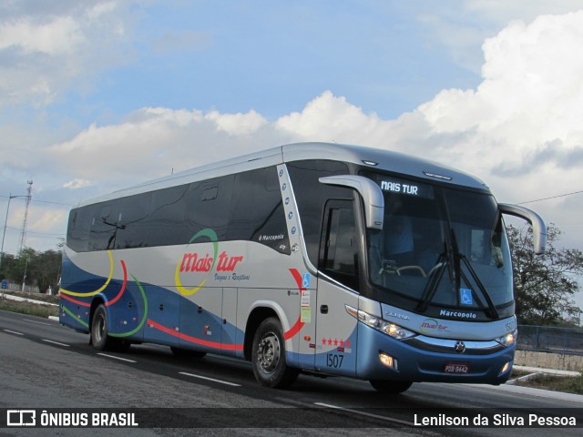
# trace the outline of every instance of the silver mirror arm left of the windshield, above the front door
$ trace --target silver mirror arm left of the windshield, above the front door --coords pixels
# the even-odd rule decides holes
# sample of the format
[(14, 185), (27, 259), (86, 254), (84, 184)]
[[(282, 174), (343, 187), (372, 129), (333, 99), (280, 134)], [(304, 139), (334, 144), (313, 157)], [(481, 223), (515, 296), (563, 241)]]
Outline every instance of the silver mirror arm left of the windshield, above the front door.
[(381, 188), (371, 179), (363, 176), (340, 175), (318, 179), (322, 184), (353, 188), (361, 195), (364, 202), (366, 228), (383, 229), (384, 197)]

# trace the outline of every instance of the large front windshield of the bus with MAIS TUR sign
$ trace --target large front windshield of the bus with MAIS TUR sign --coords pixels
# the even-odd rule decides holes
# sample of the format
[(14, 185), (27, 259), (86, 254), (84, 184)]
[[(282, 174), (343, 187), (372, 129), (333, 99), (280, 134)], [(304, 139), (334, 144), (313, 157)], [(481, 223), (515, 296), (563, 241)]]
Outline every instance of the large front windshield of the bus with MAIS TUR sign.
[(417, 313), (476, 311), (490, 320), (512, 307), (510, 250), (491, 195), (366, 176), (384, 192), (383, 230), (367, 233), (369, 279), (381, 300)]

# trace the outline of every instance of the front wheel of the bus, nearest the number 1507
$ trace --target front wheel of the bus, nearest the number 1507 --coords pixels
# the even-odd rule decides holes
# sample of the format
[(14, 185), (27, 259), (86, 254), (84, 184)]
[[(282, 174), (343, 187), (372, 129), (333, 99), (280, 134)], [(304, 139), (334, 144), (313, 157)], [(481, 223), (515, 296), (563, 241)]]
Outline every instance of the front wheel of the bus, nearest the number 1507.
[(299, 371), (285, 361), (285, 340), (280, 320), (263, 320), (255, 332), (251, 355), (253, 374), (261, 385), (283, 389), (292, 385)]

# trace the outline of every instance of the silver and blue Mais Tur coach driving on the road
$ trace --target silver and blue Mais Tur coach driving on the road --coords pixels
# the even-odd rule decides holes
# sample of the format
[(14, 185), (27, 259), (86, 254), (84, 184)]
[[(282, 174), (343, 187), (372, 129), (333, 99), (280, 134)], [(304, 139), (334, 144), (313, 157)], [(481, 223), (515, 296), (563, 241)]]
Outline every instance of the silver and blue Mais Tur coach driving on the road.
[(517, 320), (502, 214), (477, 178), (386, 150), (307, 143), (173, 174), (70, 212), (60, 322), (97, 350), (168, 345), (401, 392), (500, 384)]

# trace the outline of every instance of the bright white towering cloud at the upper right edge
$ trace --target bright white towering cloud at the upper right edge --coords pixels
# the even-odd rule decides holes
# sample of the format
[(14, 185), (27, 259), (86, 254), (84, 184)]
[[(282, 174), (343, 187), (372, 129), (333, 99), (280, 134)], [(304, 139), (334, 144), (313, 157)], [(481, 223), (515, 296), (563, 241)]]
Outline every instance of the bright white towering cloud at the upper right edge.
[[(491, 170), (544, 165), (533, 154), (546, 149), (548, 155), (548, 145), (559, 155), (583, 146), (582, 38), (583, 11), (508, 25), (483, 46), (483, 82), (476, 91), (444, 90), (417, 111), (431, 135), (473, 133), (470, 140), (483, 149), (452, 144), (466, 158), (472, 154), (470, 162)], [(486, 162), (477, 159), (486, 150)], [(571, 165), (564, 158), (547, 164)]]

